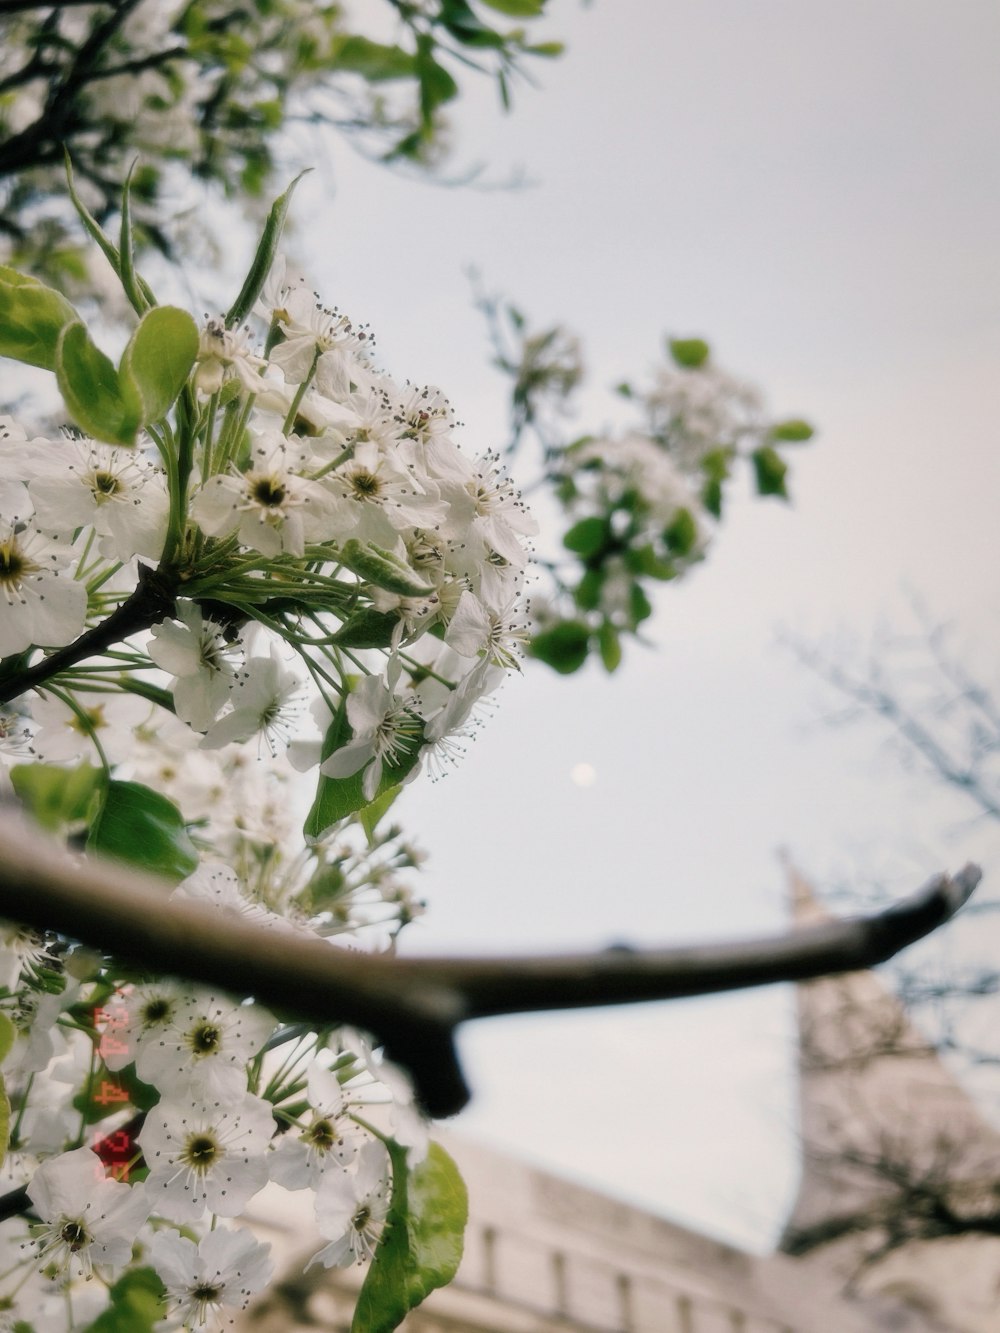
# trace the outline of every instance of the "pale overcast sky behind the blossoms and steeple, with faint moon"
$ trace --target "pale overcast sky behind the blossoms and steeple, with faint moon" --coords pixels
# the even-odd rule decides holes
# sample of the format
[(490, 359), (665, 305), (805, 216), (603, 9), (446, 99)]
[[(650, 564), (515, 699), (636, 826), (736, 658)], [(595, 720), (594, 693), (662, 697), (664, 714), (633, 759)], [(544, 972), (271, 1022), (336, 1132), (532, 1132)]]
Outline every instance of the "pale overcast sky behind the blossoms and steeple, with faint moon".
[[(429, 849), (411, 946), (661, 944), (773, 930), (776, 849), (823, 885), (900, 893), (988, 830), (903, 774), (876, 729), (776, 647), (907, 619), (905, 589), (996, 660), (1000, 563), (1000, 9), (925, 0), (553, 0), (565, 57), (504, 119), (468, 81), (456, 168), (393, 179), (341, 143), (296, 196), (324, 297), (397, 377), (439, 384), (473, 451), (504, 439), (464, 268), (581, 336), (584, 420), (664, 332), (701, 335), (776, 413), (813, 420), (793, 504), (736, 505), (613, 677), (529, 666), (460, 773), (401, 802)], [(332, 203), (328, 193), (335, 189)], [(589, 764), (591, 786), (573, 766)], [(1000, 870), (1000, 857), (995, 856)], [(493, 1020), (456, 1122), (765, 1249), (795, 1185), (785, 989)]]

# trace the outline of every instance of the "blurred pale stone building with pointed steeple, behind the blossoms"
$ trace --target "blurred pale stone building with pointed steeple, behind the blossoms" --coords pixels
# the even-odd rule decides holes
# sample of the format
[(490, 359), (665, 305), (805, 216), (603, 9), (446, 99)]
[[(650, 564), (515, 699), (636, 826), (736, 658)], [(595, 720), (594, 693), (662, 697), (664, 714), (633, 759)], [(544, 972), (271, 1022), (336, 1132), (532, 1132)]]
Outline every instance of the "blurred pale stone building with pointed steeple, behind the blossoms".
[[(792, 876), (796, 920), (823, 916)], [(783, 1253), (759, 1257), (664, 1217), (437, 1134), (469, 1186), (456, 1281), (409, 1333), (996, 1333), (1000, 1134), (872, 973), (800, 985), (803, 1168)], [(348, 1333), (363, 1273), (304, 1262), (321, 1241), (301, 1196), (253, 1222), (285, 1280), (255, 1333)], [(933, 1240), (915, 1238), (935, 1232)], [(949, 1214), (951, 1209), (951, 1214)], [(889, 1244), (892, 1242), (892, 1244)]]

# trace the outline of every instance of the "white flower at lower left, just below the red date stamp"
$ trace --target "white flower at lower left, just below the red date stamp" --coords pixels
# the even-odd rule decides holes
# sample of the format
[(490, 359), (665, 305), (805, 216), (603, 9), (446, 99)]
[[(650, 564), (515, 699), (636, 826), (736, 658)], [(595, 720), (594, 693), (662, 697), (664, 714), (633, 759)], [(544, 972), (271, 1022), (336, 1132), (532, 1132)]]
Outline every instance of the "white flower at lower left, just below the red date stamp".
[(136, 1232), (149, 1216), (141, 1185), (108, 1180), (89, 1148), (51, 1157), (35, 1172), (28, 1198), (43, 1220), (36, 1232), (39, 1261), (60, 1270), (95, 1264), (121, 1268), (132, 1258)]

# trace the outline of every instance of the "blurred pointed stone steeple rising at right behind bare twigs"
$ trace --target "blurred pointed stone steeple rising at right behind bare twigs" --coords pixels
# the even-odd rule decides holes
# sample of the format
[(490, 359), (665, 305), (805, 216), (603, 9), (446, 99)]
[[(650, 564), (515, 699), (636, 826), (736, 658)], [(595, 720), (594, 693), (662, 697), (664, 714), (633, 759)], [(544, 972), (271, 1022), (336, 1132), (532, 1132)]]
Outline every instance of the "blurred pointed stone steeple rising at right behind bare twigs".
[[(829, 920), (785, 865), (795, 924)], [(935, 1190), (963, 1208), (992, 1194), (1000, 1133), (873, 972), (803, 982), (797, 1009), (801, 1182), (783, 1249), (853, 1236), (860, 1253), (865, 1232), (893, 1225), (893, 1209), (929, 1206)]]

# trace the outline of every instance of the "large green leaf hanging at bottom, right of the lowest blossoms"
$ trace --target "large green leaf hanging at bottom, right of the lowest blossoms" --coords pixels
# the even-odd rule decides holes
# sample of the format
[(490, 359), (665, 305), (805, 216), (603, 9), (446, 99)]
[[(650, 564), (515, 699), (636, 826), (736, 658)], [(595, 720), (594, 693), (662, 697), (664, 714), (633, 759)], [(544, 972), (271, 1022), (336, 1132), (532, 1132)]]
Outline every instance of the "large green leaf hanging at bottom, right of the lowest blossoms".
[(468, 1196), (459, 1168), (440, 1144), (407, 1169), (407, 1152), (389, 1144), (392, 1202), (381, 1244), (357, 1297), (351, 1333), (392, 1333), (461, 1262)]

